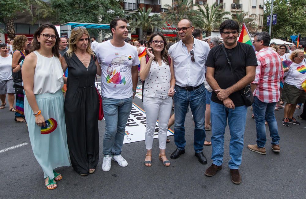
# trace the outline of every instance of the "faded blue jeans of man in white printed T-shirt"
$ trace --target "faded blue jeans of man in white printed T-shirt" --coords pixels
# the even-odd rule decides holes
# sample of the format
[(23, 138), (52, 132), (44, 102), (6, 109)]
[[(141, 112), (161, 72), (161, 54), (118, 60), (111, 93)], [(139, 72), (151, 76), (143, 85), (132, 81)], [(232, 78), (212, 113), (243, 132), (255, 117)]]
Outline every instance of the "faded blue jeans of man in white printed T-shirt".
[(126, 99), (112, 99), (102, 97), (105, 119), (105, 135), (103, 139), (104, 156), (118, 156), (121, 154), (125, 125), (132, 110), (132, 97)]

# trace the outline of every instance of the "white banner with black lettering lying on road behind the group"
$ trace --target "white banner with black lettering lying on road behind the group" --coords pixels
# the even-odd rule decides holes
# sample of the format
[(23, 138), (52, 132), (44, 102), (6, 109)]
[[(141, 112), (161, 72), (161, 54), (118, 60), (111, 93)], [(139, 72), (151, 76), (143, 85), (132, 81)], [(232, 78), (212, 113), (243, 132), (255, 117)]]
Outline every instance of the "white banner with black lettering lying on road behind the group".
[[(95, 87), (98, 89), (101, 94), (101, 82), (95, 82)], [(138, 94), (137, 94), (138, 91)], [(142, 85), (137, 86), (136, 89), (136, 97), (142, 99)], [(170, 117), (170, 115), (169, 115)], [(144, 141), (144, 136), (146, 133), (146, 113), (143, 109), (137, 106), (135, 103), (132, 105), (132, 110), (128, 118), (128, 122), (125, 126), (125, 135), (123, 139), (123, 144)], [(158, 138), (158, 120), (155, 124), (155, 132), (153, 135), (153, 139)], [(169, 129), (167, 132), (167, 136), (174, 135), (173, 130)]]

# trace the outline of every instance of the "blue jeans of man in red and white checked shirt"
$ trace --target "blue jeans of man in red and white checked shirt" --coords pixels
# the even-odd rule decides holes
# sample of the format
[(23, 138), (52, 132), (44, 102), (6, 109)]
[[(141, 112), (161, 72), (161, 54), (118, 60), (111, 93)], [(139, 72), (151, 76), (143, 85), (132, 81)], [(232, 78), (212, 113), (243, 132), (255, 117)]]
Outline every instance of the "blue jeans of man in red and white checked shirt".
[(274, 116), (274, 107), (276, 102), (266, 103), (260, 101), (254, 96), (253, 113), (256, 122), (256, 143), (258, 148), (265, 147), (266, 144), (266, 125), (265, 120), (268, 122), (270, 137), (272, 138), (272, 145), (279, 144), (279, 135), (277, 122)]

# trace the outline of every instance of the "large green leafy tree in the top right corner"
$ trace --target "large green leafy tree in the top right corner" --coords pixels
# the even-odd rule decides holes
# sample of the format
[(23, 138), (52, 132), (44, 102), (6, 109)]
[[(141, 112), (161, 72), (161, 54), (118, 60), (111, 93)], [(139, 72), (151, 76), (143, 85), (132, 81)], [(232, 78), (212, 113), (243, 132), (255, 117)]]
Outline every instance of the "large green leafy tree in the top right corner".
[[(277, 24), (272, 25), (271, 37), (289, 39), (300, 33), (306, 36), (306, 0), (274, 0), (273, 13), (277, 14)], [(269, 32), (267, 16), (271, 14), (271, 0), (266, 0), (263, 17), (263, 31)]]

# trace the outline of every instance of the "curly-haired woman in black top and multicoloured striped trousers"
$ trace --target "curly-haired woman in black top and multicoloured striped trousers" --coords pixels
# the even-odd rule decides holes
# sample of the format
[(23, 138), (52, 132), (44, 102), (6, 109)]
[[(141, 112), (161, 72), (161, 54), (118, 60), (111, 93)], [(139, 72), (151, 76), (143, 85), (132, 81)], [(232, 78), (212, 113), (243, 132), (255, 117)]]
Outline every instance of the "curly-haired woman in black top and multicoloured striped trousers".
[[(13, 45), (13, 60), (12, 60), (12, 74), (14, 81), (14, 88), (16, 93), (16, 112), (15, 122), (26, 122), (24, 118), (24, 93), (22, 89), (22, 74), (20, 70), (20, 62), (24, 60), (26, 54), (25, 49), (28, 45), (28, 38), (24, 35), (17, 35), (14, 38)], [(16, 69), (15, 69), (16, 68)], [(18, 88), (18, 85), (20, 88)]]

